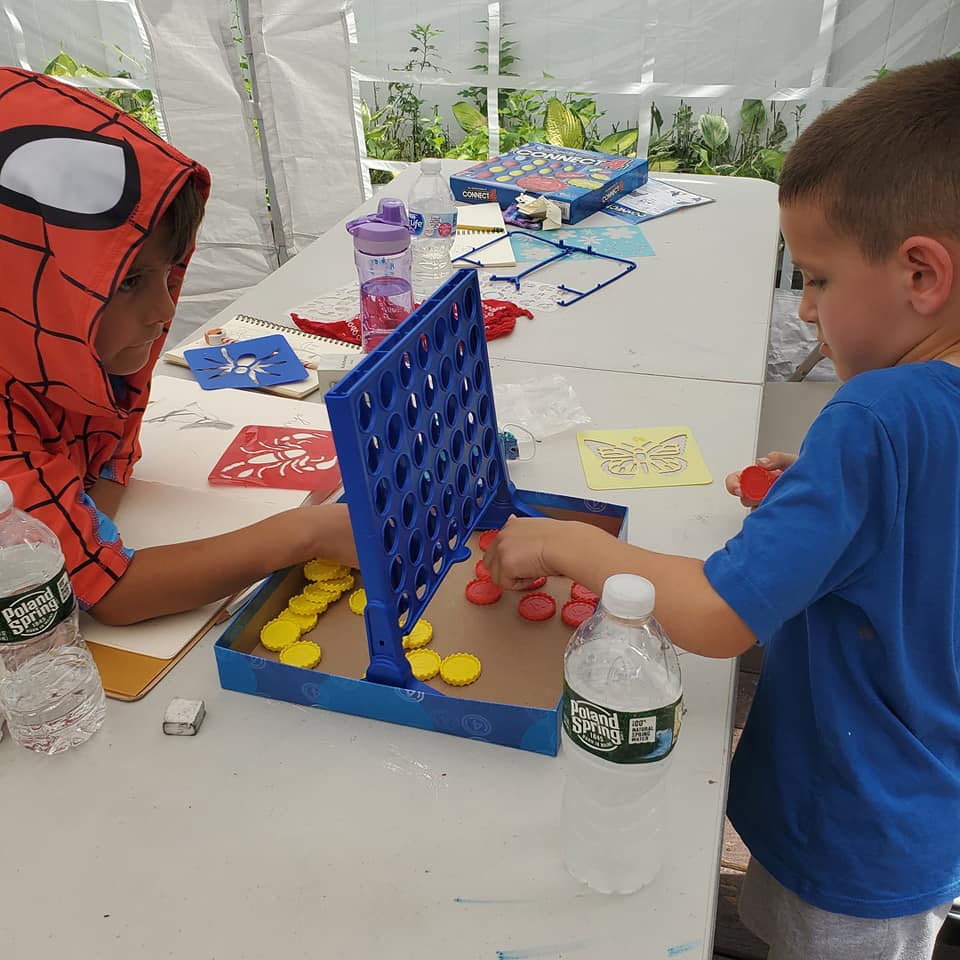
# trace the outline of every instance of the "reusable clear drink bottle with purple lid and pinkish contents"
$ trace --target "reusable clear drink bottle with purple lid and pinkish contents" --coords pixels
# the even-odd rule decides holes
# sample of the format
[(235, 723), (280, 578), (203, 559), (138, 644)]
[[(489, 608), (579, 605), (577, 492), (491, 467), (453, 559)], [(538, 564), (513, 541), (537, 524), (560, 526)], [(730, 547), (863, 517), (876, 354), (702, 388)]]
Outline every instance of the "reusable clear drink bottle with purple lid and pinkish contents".
[(410, 226), (402, 200), (384, 197), (377, 212), (347, 224), (360, 279), (360, 340), (369, 353), (413, 311)]

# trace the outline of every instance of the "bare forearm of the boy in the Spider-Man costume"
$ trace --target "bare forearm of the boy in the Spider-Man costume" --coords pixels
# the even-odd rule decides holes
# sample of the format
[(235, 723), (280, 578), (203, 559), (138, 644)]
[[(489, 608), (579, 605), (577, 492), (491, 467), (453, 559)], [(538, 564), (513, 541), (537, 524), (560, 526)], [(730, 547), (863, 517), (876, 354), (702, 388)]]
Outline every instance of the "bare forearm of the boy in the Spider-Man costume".
[(313, 557), (357, 566), (346, 504), (298, 507), (233, 533), (138, 550), (89, 612), (111, 626), (181, 613)]

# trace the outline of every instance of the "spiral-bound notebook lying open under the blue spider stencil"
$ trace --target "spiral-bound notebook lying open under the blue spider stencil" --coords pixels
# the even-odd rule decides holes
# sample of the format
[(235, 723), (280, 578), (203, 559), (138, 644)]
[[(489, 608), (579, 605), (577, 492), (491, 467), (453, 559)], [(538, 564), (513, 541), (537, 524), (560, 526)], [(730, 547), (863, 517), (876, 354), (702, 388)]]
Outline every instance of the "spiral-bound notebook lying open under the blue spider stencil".
[[(329, 390), (341, 377), (353, 369), (363, 353), (358, 346), (323, 337), (317, 333), (307, 333), (296, 327), (288, 327), (282, 323), (273, 323), (270, 320), (261, 320), (259, 317), (250, 317), (239, 313), (232, 320), (228, 320), (220, 330), (226, 341), (253, 340), (269, 333), (279, 333), (286, 337), (293, 348), (293, 352), (300, 358), (300, 362), (307, 368), (306, 380), (296, 383), (283, 383), (272, 387), (262, 387), (266, 393), (275, 393), (281, 397), (300, 399), (309, 396), (315, 390)], [(189, 343), (168, 350), (163, 359), (168, 363), (175, 363), (181, 367), (189, 366), (184, 357), (187, 350), (197, 350), (208, 347), (204, 335), (198, 334), (196, 339)]]

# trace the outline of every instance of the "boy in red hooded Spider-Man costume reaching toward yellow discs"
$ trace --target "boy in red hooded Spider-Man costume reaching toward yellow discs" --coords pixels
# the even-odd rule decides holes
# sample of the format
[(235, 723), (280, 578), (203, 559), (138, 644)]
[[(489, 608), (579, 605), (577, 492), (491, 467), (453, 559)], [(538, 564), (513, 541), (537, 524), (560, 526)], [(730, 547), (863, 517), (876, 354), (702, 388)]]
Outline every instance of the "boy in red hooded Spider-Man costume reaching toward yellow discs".
[(110, 519), (209, 187), (107, 101), (0, 68), (0, 480), (59, 537), (103, 623), (190, 610), (316, 556), (357, 563), (345, 505), (136, 552)]

